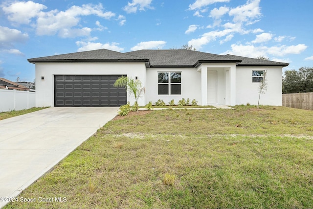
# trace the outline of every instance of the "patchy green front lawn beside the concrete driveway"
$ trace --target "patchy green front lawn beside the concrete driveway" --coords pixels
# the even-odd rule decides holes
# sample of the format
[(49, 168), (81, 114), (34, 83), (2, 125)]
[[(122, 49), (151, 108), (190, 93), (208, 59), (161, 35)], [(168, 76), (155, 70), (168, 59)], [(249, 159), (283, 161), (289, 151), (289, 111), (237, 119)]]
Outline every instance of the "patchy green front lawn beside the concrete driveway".
[(5, 208), (313, 208), (313, 112), (159, 110), (113, 120)]

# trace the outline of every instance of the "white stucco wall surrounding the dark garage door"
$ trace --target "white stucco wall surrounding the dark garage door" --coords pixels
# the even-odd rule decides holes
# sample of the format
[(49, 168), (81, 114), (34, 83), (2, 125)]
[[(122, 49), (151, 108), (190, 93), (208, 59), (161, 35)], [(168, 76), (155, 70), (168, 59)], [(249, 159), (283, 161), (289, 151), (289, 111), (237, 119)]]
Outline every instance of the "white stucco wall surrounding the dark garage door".
[[(138, 79), (146, 85), (144, 63), (36, 63), (36, 107), (54, 106), (54, 75), (124, 75)], [(42, 80), (41, 76), (45, 79)], [(134, 98), (127, 96), (134, 104)], [(146, 104), (145, 94), (138, 101)]]

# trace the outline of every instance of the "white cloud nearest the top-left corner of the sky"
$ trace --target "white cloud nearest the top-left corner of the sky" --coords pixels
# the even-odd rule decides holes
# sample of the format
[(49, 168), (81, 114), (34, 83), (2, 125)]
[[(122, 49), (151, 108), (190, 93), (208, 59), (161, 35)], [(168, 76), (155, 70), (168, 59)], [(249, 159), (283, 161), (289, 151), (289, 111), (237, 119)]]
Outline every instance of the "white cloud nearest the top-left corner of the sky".
[(31, 18), (36, 17), (41, 10), (46, 8), (45, 5), (30, 0), (14, 2), (2, 7), (4, 13), (8, 15), (8, 20), (19, 24), (30, 23)]

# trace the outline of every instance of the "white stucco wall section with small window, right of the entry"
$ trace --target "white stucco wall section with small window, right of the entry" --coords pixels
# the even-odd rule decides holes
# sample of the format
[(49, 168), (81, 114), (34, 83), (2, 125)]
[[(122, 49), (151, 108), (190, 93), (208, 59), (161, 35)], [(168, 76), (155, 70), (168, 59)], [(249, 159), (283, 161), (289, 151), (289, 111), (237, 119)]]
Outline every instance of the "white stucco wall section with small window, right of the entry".
[(259, 83), (252, 83), (252, 70), (267, 70), (268, 88), (261, 94), (261, 105), (282, 105), (282, 67), (237, 67), (236, 104), (258, 104)]

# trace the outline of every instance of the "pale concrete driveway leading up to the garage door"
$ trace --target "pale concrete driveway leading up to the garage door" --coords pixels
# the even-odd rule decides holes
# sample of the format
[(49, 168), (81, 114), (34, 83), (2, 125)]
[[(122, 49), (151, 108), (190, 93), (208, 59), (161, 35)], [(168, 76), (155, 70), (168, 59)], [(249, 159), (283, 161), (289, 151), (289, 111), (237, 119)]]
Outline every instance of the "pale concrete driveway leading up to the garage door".
[[(117, 115), (118, 107), (52, 107), (0, 120), (0, 208)], [(36, 197), (34, 197), (36, 198)]]

